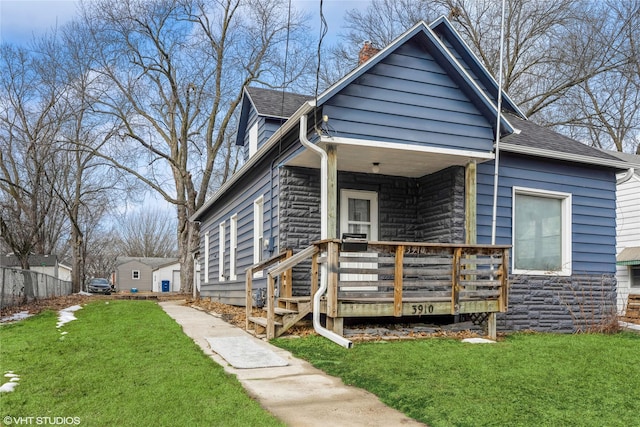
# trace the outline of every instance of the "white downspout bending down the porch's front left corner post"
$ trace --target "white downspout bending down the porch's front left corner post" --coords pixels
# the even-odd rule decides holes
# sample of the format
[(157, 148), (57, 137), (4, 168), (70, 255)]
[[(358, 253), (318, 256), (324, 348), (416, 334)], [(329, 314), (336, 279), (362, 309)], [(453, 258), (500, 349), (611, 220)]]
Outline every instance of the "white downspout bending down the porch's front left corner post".
[[(320, 239), (327, 238), (327, 217), (328, 217), (328, 193), (327, 193), (327, 170), (329, 167), (329, 156), (317, 145), (307, 139), (307, 115), (300, 116), (300, 143), (309, 150), (320, 156)], [(327, 290), (329, 277), (327, 274), (327, 263), (320, 265), (320, 288), (313, 296), (313, 329), (325, 338), (330, 339), (346, 348), (351, 348), (353, 343), (345, 337), (326, 329), (320, 324), (320, 297)]]

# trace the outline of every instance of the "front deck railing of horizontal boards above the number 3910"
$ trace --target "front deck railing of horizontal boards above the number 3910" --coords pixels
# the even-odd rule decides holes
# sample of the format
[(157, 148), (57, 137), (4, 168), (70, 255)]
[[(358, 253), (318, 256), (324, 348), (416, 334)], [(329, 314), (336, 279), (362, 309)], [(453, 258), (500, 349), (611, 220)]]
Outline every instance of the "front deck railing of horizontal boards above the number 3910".
[[(369, 242), (366, 252), (352, 253), (341, 251), (339, 240), (320, 245), (329, 254), (320, 260), (331, 272), (329, 316), (337, 316), (344, 301), (393, 301), (398, 317), (406, 315), (403, 303), (413, 302), (449, 302), (448, 314), (459, 314), (461, 303), (471, 301), (496, 301), (497, 311), (506, 310), (509, 246)], [(429, 306), (416, 310), (445, 314), (428, 312)]]

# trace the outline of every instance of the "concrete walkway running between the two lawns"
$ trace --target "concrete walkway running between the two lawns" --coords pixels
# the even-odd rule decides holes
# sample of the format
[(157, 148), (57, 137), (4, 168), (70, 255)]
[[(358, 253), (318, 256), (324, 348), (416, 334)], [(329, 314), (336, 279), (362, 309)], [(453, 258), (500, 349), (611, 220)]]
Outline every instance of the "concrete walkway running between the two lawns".
[[(423, 426), (401, 412), (384, 405), (373, 394), (345, 385), (288, 351), (253, 337), (205, 311), (182, 301), (160, 302), (185, 334), (224, 369), (235, 375), (263, 408), (288, 426)], [(236, 369), (214, 353), (206, 338), (251, 337), (255, 344), (271, 349), (289, 362), (288, 366)], [(337, 345), (337, 344), (336, 344)]]

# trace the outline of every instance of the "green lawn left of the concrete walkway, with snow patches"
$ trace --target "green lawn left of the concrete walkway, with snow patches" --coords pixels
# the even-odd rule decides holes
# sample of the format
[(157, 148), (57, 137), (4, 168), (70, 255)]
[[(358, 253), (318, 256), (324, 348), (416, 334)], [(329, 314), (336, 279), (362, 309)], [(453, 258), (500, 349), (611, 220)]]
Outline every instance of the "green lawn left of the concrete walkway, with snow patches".
[(20, 376), (13, 392), (0, 393), (2, 419), (34, 417), (36, 424), (35, 417), (77, 417), (82, 426), (282, 425), (157, 304), (93, 302), (75, 316), (60, 330), (56, 312), (0, 327), (0, 375)]

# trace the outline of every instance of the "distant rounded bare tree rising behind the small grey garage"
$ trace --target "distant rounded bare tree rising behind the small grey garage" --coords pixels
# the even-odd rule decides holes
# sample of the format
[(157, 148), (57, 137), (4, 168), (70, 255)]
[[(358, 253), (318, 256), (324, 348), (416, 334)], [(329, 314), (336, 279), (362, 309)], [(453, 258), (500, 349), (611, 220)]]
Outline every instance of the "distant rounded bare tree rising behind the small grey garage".
[(140, 209), (123, 216), (117, 228), (117, 252), (133, 257), (175, 257), (175, 216), (160, 209)]

